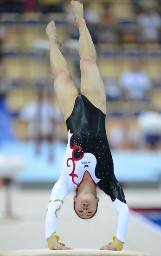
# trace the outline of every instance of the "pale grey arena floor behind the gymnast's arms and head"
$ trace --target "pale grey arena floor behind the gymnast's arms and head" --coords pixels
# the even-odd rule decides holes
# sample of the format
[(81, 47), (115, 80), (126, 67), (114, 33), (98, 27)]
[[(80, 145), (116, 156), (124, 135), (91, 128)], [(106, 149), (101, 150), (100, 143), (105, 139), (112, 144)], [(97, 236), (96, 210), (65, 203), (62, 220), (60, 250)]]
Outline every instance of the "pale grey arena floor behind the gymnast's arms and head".
[[(5, 189), (0, 188), (0, 251), (16, 249), (45, 249), (45, 210), (49, 189), (12, 188), (13, 213), (16, 219), (3, 219)], [(111, 241), (116, 232), (116, 212), (109, 197), (100, 191), (97, 216), (88, 221), (76, 216), (73, 193), (68, 195), (59, 213), (57, 233), (61, 241), (74, 249), (100, 249)], [(161, 201), (161, 189), (125, 189), (129, 206), (153, 205)], [(155, 200), (153, 200), (155, 198)], [(135, 212), (130, 214), (129, 231), (124, 250), (145, 251), (160, 256), (161, 228)], [(155, 244), (155, 246), (154, 246)]]

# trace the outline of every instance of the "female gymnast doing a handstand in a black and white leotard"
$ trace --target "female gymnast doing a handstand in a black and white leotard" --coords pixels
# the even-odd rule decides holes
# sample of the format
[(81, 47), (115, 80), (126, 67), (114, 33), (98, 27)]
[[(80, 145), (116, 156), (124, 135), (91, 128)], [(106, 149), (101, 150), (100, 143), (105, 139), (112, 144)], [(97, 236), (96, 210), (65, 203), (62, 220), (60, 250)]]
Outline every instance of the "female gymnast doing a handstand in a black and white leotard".
[(77, 216), (88, 219), (97, 212), (96, 187), (110, 196), (118, 214), (117, 232), (113, 242), (101, 249), (122, 250), (126, 237), (129, 209), (121, 185), (114, 175), (113, 160), (105, 131), (106, 96), (96, 64), (96, 50), (84, 20), (83, 5), (71, 1), (75, 27), (79, 29), (81, 94), (71, 79), (67, 62), (61, 54), (54, 21), (46, 34), (50, 44), (50, 60), (55, 77), (54, 89), (68, 129), (68, 144), (62, 173), (52, 189), (45, 219), (45, 236), (49, 249), (71, 249), (58, 242), (56, 225), (58, 211), (66, 195), (76, 189), (74, 209)]

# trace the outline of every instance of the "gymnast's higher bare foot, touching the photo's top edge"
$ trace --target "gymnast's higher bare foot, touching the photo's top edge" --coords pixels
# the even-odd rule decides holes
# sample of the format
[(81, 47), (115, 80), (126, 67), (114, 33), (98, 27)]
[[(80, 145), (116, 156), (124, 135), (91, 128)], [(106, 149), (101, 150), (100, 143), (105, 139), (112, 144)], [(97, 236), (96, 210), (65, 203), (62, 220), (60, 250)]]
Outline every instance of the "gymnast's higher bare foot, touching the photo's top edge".
[(71, 1), (71, 11), (74, 15), (74, 26), (78, 28), (79, 21), (84, 18), (83, 4), (78, 1)]

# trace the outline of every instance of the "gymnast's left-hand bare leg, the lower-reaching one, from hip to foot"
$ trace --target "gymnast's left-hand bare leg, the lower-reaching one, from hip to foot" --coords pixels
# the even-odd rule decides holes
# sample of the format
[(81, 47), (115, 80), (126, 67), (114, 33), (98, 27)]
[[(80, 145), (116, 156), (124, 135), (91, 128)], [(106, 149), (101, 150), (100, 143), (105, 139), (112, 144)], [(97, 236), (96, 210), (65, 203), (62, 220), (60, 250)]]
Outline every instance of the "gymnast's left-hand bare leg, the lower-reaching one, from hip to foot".
[(59, 108), (66, 121), (71, 115), (78, 90), (71, 79), (67, 62), (59, 50), (61, 41), (58, 38), (54, 21), (51, 21), (46, 27), (46, 34), (49, 38), (52, 74), (55, 77), (54, 90), (58, 99)]

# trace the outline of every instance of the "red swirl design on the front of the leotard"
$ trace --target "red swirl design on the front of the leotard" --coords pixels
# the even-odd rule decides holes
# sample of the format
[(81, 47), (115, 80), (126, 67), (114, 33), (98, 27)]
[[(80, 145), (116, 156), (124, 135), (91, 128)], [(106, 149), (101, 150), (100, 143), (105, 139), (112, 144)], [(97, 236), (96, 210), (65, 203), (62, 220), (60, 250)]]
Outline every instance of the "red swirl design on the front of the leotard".
[[(74, 133), (71, 135), (71, 138), (72, 138), (73, 135), (74, 135)], [(78, 148), (79, 150), (78, 150), (77, 152), (81, 152), (81, 151), (82, 151), (82, 147), (81, 147), (81, 146), (78, 146), (78, 145), (76, 144), (76, 142), (74, 142), (74, 146), (71, 146), (71, 139), (70, 139), (70, 143), (69, 143), (69, 144), (70, 144), (70, 148), (73, 149), (73, 150), (72, 150), (71, 157), (68, 158), (68, 160), (67, 160), (66, 163), (67, 163), (67, 166), (70, 167), (71, 164), (68, 164), (68, 162), (69, 162), (70, 160), (72, 161), (72, 163), (73, 163), (73, 169), (72, 169), (72, 172), (71, 172), (69, 175), (72, 176), (72, 182), (73, 182), (74, 184), (78, 185), (78, 183), (76, 183), (76, 182), (74, 181), (74, 178), (75, 178), (75, 177), (78, 178), (78, 175), (74, 173), (75, 168), (76, 168), (75, 161), (79, 161), (79, 160), (81, 160), (81, 159), (84, 157), (84, 151), (83, 151), (83, 155), (82, 155), (81, 157), (75, 158), (75, 157), (74, 157), (74, 152), (75, 152), (75, 150)]]

